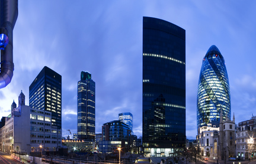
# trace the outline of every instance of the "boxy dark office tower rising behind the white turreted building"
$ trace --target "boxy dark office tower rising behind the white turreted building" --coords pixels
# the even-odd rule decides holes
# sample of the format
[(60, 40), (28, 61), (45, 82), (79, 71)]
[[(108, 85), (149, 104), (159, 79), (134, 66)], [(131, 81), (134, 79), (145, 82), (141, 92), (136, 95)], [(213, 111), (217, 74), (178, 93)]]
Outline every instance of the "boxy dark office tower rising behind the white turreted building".
[(62, 129), (62, 76), (45, 66), (29, 87), (29, 104), (52, 112), (52, 127)]

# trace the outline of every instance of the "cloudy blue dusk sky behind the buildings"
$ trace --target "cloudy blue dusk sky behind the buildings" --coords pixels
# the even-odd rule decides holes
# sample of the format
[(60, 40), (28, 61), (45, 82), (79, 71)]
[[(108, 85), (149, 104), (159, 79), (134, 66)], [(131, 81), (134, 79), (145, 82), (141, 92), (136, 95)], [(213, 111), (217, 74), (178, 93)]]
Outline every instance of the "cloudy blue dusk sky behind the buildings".
[(186, 132), (196, 138), (201, 61), (215, 44), (226, 61), (236, 123), (256, 116), (256, 2), (238, 1), (19, 1), (14, 28), (14, 77), (0, 90), (0, 117), (47, 65), (62, 75), (62, 130), (76, 133), (81, 71), (96, 83), (96, 132), (118, 114), (133, 114), (142, 136), (142, 17), (186, 31)]

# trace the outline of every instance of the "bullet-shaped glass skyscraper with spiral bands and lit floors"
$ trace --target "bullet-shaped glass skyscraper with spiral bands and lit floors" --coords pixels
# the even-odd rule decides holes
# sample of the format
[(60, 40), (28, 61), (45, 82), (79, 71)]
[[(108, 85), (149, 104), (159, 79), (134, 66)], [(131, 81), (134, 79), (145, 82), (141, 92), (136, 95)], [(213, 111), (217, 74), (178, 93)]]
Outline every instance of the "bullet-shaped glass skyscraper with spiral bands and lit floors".
[(212, 45), (203, 58), (197, 89), (197, 129), (207, 123), (219, 126), (231, 119), (231, 96), (225, 60), (219, 49)]

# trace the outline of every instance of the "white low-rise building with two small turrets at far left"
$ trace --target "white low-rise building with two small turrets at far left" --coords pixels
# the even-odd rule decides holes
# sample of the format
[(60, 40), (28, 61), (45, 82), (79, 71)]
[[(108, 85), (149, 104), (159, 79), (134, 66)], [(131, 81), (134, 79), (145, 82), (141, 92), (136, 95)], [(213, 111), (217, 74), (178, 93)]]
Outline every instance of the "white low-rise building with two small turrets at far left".
[(21, 91), (18, 107), (11, 105), (11, 114), (5, 117), (0, 129), (0, 150), (5, 153), (26, 153), (55, 151), (62, 145), (61, 130), (52, 128), (51, 112), (31, 109), (25, 106)]

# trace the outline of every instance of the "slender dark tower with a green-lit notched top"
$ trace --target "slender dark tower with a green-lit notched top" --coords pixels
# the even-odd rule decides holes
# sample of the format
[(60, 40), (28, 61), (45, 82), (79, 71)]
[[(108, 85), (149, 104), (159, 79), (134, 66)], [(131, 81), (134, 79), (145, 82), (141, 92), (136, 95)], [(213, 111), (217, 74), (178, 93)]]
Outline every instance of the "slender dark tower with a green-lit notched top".
[(95, 139), (95, 82), (85, 71), (78, 81), (78, 139)]

